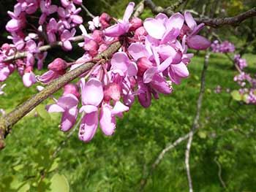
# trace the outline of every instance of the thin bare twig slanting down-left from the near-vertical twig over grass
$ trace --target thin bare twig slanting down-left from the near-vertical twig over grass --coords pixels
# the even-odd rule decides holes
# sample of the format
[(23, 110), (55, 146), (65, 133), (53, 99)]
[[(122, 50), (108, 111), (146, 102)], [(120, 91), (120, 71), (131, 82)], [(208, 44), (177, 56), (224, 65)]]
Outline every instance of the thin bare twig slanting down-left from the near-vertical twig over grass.
[(162, 158), (164, 158), (165, 153), (167, 153), (167, 151), (173, 149), (174, 147), (176, 147), (178, 144), (180, 144), (181, 142), (183, 142), (184, 140), (186, 140), (189, 137), (189, 134), (191, 132), (189, 132), (188, 134), (185, 134), (183, 137), (179, 137), (175, 142), (173, 142), (172, 144), (168, 145), (167, 147), (165, 147), (165, 149), (163, 149), (161, 151), (161, 153), (159, 153), (157, 159), (154, 161), (154, 164), (151, 165), (151, 169), (148, 172), (148, 174), (146, 175), (146, 177), (141, 180), (141, 185), (140, 185), (140, 191), (143, 191), (143, 189), (146, 186), (146, 183), (148, 182), (148, 178), (151, 176), (151, 174), (153, 173), (154, 169), (158, 166), (158, 164), (160, 163), (160, 161), (162, 161)]

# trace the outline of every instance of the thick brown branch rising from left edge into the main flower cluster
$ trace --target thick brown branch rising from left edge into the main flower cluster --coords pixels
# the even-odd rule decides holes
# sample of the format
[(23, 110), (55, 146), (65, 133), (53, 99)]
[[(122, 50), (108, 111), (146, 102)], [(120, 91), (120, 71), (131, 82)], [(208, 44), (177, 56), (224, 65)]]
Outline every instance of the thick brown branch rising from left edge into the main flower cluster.
[[(108, 47), (107, 50), (105, 50), (103, 53), (97, 55), (95, 57), (96, 59), (110, 58), (113, 53), (116, 53), (116, 51), (121, 47), (121, 42), (114, 42), (112, 45)], [(86, 63), (78, 68), (68, 72), (67, 74), (64, 74), (63, 76), (59, 77), (56, 80), (53, 80), (50, 82), (50, 84), (44, 88), (39, 93), (32, 96), (29, 100), (21, 104), (20, 106), (16, 107), (15, 110), (8, 113), (7, 115), (4, 115), (0, 118), (0, 150), (4, 147), (4, 137), (7, 136), (7, 134), (10, 133), (10, 130), (12, 126), (18, 122), (23, 116), (25, 116), (28, 112), (34, 109), (34, 107), (37, 107), (38, 104), (40, 104), (42, 101), (48, 98), (48, 96), (52, 95), (56, 91), (59, 91), (60, 88), (62, 88), (64, 85), (66, 85), (68, 82), (74, 80), (76, 77), (78, 77), (80, 74), (83, 74), (84, 72), (91, 69), (95, 63)]]

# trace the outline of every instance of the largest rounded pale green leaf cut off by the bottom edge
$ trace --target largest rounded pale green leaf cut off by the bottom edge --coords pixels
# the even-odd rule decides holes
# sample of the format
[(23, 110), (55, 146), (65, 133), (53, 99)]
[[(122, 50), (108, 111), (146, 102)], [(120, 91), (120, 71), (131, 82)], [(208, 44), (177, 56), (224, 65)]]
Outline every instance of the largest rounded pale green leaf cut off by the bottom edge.
[(53, 192), (69, 192), (69, 183), (64, 174), (56, 173), (50, 180), (50, 191)]

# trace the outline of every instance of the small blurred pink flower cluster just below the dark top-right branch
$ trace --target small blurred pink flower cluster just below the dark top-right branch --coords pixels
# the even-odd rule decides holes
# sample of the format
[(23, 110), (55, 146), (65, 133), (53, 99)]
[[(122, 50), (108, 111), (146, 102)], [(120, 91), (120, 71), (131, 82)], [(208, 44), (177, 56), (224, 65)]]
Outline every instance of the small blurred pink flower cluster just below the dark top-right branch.
[(218, 40), (215, 40), (211, 44), (211, 50), (213, 53), (233, 53), (235, 51), (235, 45), (228, 41), (219, 43)]

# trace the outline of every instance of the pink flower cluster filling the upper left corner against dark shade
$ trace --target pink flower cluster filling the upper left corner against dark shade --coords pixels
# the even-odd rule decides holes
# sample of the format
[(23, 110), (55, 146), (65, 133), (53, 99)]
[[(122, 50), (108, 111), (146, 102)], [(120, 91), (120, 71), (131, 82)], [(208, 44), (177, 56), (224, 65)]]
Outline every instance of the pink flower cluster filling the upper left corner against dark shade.
[[(61, 41), (64, 50), (72, 50), (70, 41), (75, 36), (75, 26), (83, 23), (83, 18), (78, 15), (81, 8), (75, 7), (81, 3), (82, 0), (61, 0), (61, 5), (57, 6), (51, 0), (18, 0), (13, 12), (8, 12), (11, 20), (6, 29), (10, 32), (8, 39), (12, 44), (1, 46), (0, 81), (18, 69), (23, 84), (29, 87), (36, 82), (33, 72), (35, 60), (40, 70), (47, 56), (47, 52), (40, 52), (39, 47)], [(26, 52), (26, 58), (4, 62), (17, 51)]]

